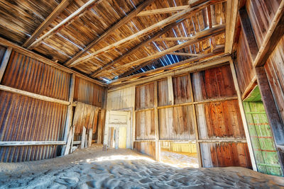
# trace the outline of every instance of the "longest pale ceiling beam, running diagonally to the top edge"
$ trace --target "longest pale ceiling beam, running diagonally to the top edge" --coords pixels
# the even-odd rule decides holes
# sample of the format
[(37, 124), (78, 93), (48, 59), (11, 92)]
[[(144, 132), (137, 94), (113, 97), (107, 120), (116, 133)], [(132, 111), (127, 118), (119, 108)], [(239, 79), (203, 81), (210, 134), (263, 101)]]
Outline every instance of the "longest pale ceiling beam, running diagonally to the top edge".
[(137, 38), (140, 38), (141, 36), (146, 35), (149, 32), (153, 32), (154, 30), (157, 30), (157, 29), (159, 29), (159, 28), (161, 28), (165, 25), (168, 25), (170, 23), (174, 23), (175, 21), (178, 21), (179, 19), (184, 18), (185, 16), (188, 16), (189, 13), (200, 11), (202, 8), (208, 6), (209, 4), (213, 4), (213, 3), (216, 3), (216, 2), (219, 2), (219, 1), (222, 1), (222, 0), (207, 1), (206, 3), (201, 4), (200, 6), (197, 6), (197, 7), (186, 8), (185, 10), (180, 11), (179, 13), (175, 13), (173, 16), (165, 18), (163, 21), (160, 21), (158, 23), (151, 25), (148, 28), (145, 28), (143, 30), (138, 31), (138, 33), (134, 33), (133, 35), (130, 35), (127, 38), (124, 38), (122, 40), (114, 42), (113, 44), (108, 45), (107, 47), (103, 47), (102, 49), (97, 50), (96, 52), (92, 52), (91, 54), (89, 54), (87, 56), (81, 57), (80, 59), (77, 59), (75, 62), (72, 62), (72, 64), (70, 64), (68, 67), (75, 67), (77, 64), (80, 64), (80, 63), (85, 62), (89, 59), (92, 59), (92, 58), (96, 57), (97, 55), (101, 55), (102, 53), (107, 52), (107, 51), (109, 51), (109, 50), (111, 50), (115, 47), (119, 47), (119, 45), (122, 45), (126, 42), (129, 42), (131, 40), (136, 40)]

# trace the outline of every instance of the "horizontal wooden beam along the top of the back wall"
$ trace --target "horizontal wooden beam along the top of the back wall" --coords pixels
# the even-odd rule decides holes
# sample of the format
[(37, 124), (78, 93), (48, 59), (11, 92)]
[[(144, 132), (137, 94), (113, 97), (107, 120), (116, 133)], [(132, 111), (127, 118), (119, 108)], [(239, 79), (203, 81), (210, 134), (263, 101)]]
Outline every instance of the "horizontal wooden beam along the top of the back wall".
[[(195, 59), (195, 58), (192, 58)], [(157, 79), (165, 78), (166, 76), (175, 76), (178, 74), (184, 74), (187, 72), (193, 72), (193, 71), (202, 71), (204, 69), (212, 68), (212, 67), (218, 67), (220, 65), (226, 64), (226, 62), (229, 62), (231, 57), (228, 55), (220, 56), (220, 57), (212, 57), (211, 59), (204, 59), (203, 61), (192, 63), (192, 59), (188, 59), (185, 61), (185, 64), (182, 65), (182, 67), (177, 67), (175, 69), (171, 69), (168, 71), (161, 71), (160, 73), (151, 74), (148, 76), (148, 78), (140, 78), (136, 79), (135, 81), (126, 81), (127, 78), (117, 79), (114, 80), (111, 84), (109, 84), (109, 92), (116, 91), (121, 88), (127, 88), (129, 86), (133, 86), (136, 84), (143, 84), (150, 81), (155, 81)], [(178, 63), (175, 63), (178, 64)], [(153, 70), (155, 71), (155, 70)]]

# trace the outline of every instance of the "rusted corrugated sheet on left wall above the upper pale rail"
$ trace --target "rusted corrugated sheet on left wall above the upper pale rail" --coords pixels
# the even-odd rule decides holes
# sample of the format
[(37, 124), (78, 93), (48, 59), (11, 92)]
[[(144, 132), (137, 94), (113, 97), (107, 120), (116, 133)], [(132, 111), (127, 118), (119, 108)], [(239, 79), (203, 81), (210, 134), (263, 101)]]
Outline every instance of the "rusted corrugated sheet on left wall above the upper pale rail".
[(70, 74), (13, 51), (1, 84), (68, 101)]

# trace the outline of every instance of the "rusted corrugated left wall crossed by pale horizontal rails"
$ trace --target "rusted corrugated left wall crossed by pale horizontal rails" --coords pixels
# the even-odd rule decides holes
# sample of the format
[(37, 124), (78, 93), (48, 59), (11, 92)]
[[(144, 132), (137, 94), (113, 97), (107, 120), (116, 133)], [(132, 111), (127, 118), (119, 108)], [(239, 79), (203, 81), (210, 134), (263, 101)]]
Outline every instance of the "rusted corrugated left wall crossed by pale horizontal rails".
[[(4, 52), (6, 48), (1, 46), (2, 65)], [(0, 145), (0, 161), (34, 161), (60, 155), (62, 144), (58, 145), (58, 142), (65, 142), (70, 81), (71, 74), (66, 71), (16, 50), (11, 52), (1, 79), (0, 142), (40, 141), (48, 144)], [(103, 108), (105, 93), (105, 87), (76, 76), (75, 101)]]

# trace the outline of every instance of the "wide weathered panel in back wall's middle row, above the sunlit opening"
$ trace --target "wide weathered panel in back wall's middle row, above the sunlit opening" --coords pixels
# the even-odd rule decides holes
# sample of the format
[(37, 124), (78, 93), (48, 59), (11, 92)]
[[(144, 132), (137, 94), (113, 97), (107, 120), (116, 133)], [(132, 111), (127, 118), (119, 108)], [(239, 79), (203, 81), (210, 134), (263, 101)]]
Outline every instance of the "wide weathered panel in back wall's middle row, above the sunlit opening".
[(192, 105), (158, 110), (160, 139), (195, 139)]

